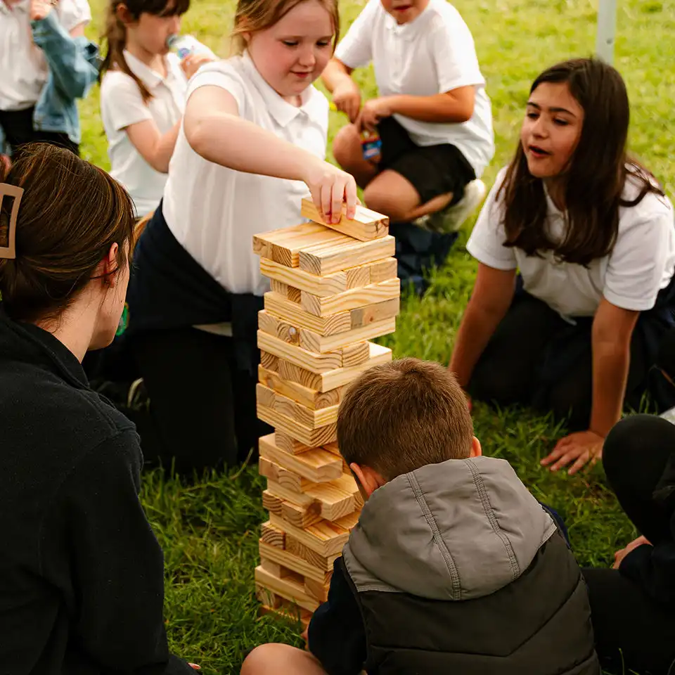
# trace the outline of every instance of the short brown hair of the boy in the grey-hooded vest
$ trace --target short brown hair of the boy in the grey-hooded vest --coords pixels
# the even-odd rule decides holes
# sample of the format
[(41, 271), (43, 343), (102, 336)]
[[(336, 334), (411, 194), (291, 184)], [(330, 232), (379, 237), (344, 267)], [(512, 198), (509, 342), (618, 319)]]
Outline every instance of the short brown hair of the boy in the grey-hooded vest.
[(469, 456), (473, 422), (464, 392), (444, 366), (400, 359), (354, 382), (338, 413), (338, 444), (347, 463), (385, 480), (427, 464)]

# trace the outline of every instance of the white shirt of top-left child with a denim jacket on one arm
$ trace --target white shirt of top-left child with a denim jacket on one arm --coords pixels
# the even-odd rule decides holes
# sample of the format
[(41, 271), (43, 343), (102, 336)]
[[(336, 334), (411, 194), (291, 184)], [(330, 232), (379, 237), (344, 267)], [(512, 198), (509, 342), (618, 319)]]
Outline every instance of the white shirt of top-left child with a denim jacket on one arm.
[[(86, 0), (60, 0), (60, 24), (70, 32), (91, 21)], [(40, 98), (47, 81), (47, 63), (30, 29), (30, 0), (10, 9), (0, 0), (0, 110), (26, 110)]]

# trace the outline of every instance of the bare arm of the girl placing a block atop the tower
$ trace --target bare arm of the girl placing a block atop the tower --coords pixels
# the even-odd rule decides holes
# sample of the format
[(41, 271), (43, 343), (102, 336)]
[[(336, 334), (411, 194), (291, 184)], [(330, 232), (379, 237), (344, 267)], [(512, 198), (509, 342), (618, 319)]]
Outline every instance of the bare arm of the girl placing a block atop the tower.
[(195, 153), (236, 171), (303, 181), (326, 219), (340, 221), (356, 212), (356, 182), (337, 167), (307, 150), (278, 138), (239, 117), (236, 99), (225, 89), (201, 86), (188, 99), (184, 117), (186, 139)]

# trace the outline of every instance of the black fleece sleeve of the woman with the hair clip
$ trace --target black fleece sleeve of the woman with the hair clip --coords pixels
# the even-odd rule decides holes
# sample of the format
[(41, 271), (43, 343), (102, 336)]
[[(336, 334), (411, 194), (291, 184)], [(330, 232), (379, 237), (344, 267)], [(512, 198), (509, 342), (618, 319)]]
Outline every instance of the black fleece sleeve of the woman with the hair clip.
[(169, 655), (164, 560), (139, 500), (140, 468), (131, 430), (84, 456), (41, 527), (41, 574), (68, 605), (70, 639), (101, 671), (194, 675)]

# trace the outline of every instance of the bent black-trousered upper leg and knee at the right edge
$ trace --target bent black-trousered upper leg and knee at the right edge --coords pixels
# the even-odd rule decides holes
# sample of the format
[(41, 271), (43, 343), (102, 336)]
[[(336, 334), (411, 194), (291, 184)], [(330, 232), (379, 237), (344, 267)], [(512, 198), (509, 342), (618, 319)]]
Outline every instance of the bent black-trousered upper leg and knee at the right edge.
[(610, 431), (603, 465), (619, 503), (652, 544), (672, 540), (672, 513), (655, 503), (654, 491), (675, 456), (675, 425), (653, 415), (634, 415)]

